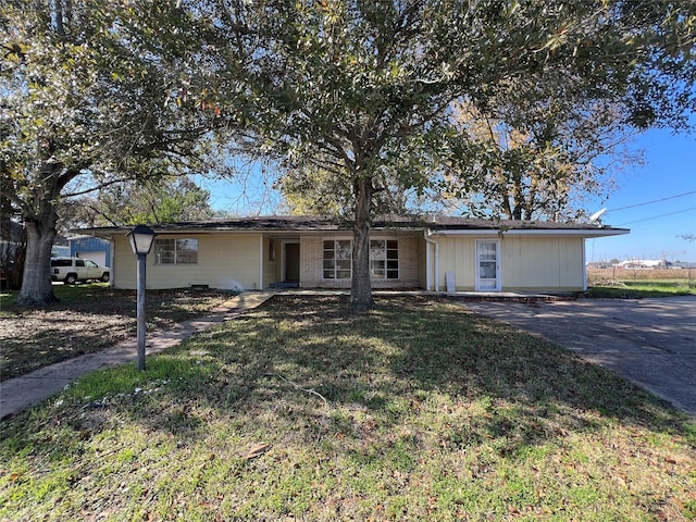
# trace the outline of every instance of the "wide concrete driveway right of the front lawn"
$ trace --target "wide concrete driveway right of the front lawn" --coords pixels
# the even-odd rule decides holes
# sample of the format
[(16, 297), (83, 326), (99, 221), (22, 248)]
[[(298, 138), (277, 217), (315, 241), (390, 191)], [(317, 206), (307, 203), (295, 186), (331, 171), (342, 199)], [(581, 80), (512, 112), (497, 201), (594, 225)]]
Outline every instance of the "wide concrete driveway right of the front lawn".
[(696, 417), (696, 296), (463, 304), (570, 348)]

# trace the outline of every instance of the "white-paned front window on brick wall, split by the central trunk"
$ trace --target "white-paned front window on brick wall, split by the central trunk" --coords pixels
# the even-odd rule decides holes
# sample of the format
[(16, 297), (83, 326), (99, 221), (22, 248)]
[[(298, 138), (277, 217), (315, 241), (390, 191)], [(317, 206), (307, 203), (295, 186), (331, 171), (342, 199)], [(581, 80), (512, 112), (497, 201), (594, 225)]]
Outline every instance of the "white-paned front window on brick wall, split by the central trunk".
[[(325, 240), (323, 252), (323, 277), (325, 279), (349, 279), (351, 277), (352, 241), (349, 239)], [(374, 279), (399, 278), (399, 241), (397, 239), (372, 239), (370, 241), (370, 276)]]

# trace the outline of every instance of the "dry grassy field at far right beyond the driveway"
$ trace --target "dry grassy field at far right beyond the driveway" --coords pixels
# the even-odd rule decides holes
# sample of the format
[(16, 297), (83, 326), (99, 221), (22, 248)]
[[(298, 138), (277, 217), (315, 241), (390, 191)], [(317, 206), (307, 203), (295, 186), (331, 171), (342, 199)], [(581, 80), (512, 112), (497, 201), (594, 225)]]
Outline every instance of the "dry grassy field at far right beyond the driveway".
[(587, 269), (593, 297), (671, 297), (696, 295), (696, 269)]

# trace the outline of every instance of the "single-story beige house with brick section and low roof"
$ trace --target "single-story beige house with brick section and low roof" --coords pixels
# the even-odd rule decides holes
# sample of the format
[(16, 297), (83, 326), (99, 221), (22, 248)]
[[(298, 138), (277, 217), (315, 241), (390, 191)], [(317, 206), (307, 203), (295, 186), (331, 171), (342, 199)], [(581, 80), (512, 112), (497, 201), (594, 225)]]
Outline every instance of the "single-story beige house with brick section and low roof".
[[(148, 288), (349, 288), (352, 224), (320, 216), (260, 216), (152, 226)], [(136, 287), (130, 227), (79, 231), (111, 243), (112, 285)], [(629, 234), (598, 224), (451, 216), (373, 222), (375, 289), (580, 291), (585, 239)]]

